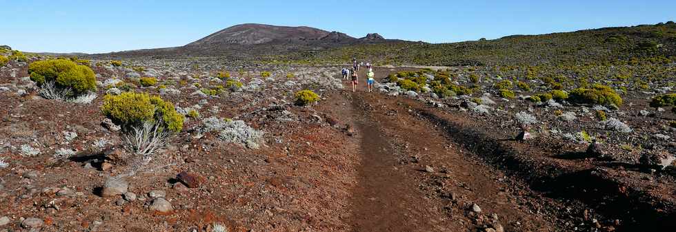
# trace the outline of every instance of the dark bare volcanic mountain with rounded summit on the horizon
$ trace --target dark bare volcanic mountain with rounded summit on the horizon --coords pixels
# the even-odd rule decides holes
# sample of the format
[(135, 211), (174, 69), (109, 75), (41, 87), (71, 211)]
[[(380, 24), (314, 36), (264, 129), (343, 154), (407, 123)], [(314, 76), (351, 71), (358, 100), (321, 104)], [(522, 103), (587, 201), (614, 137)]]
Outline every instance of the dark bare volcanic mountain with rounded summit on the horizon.
[(379, 34), (355, 38), (306, 26), (289, 27), (246, 23), (234, 25), (175, 48), (157, 48), (97, 54), (95, 56), (257, 56), (280, 52), (317, 51), (361, 43), (387, 43)]

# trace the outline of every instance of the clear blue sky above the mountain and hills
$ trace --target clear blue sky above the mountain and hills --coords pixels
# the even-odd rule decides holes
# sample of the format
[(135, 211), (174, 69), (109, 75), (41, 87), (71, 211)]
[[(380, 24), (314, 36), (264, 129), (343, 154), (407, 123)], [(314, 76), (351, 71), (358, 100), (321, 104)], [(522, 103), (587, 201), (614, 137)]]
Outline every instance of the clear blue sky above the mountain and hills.
[(0, 0), (0, 45), (115, 52), (185, 45), (239, 23), (433, 43), (676, 21), (676, 1)]

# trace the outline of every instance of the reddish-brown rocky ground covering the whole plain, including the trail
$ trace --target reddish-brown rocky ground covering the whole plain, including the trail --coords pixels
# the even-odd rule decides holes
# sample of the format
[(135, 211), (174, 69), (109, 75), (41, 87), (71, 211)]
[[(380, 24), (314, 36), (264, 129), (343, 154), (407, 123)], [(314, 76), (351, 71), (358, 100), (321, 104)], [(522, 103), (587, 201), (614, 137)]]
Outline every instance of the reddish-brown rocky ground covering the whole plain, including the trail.
[[(650, 112), (645, 96), (600, 109), (632, 129), (627, 140), (646, 136), (642, 149), (606, 140), (610, 158), (599, 158), (585, 155), (576, 133), (615, 127), (592, 120), (591, 107), (488, 91), (479, 107), (386, 84), (352, 93), (339, 67), (151, 59), (90, 67), (96, 97), (68, 102), (42, 98), (27, 63), (0, 67), (0, 230), (670, 231), (676, 215), (673, 165), (639, 162), (673, 154), (674, 129), (664, 125), (675, 116)], [(399, 70), (375, 71), (381, 80)], [(219, 72), (242, 86), (222, 87)], [(158, 82), (143, 87), (141, 77)], [(301, 89), (321, 101), (295, 105)], [(123, 158), (133, 154), (99, 109), (103, 95), (123, 91), (199, 116), (139, 165)], [(513, 139), (519, 112), (535, 116), (534, 138)]]

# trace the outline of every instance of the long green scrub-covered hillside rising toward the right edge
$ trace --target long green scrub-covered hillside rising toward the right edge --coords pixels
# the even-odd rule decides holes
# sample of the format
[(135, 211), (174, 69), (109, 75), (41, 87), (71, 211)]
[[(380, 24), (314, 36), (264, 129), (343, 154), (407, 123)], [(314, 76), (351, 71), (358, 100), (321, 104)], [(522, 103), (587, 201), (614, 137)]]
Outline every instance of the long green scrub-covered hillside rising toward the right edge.
[(415, 65), (537, 65), (588, 63), (631, 58), (674, 56), (676, 23), (600, 28), (459, 43), (377, 43), (334, 48), (328, 52), (297, 52), (277, 60), (346, 63), (361, 57), (381, 64)]

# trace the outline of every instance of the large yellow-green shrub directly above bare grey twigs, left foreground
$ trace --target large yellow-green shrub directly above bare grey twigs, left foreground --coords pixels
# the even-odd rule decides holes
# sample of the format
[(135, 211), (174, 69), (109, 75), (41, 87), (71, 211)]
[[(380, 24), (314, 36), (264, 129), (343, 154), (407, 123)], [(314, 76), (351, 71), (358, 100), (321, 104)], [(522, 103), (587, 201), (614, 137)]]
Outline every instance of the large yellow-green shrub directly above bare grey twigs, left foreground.
[(101, 112), (126, 128), (147, 122), (160, 123), (161, 127), (174, 132), (183, 129), (184, 118), (176, 112), (172, 103), (146, 93), (108, 94), (103, 97)]

